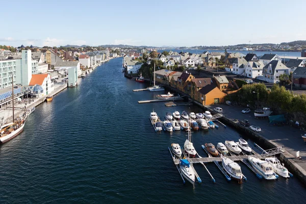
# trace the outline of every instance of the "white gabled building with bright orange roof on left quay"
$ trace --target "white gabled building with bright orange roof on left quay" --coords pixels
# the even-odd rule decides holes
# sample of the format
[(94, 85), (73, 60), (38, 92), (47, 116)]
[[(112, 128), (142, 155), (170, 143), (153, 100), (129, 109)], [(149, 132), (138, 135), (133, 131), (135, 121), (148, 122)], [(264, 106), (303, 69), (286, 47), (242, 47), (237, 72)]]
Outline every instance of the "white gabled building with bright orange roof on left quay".
[(29, 87), (33, 97), (44, 96), (54, 91), (54, 84), (48, 73), (33, 74)]

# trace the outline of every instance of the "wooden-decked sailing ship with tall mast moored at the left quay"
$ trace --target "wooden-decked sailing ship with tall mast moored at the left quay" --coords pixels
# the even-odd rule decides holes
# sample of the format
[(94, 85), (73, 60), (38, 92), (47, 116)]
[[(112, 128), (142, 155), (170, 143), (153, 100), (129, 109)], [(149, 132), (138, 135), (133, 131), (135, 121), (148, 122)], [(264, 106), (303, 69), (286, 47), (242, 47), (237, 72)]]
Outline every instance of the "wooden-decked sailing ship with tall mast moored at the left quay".
[[(12, 75), (13, 78), (13, 75)], [(14, 80), (12, 79), (12, 82)], [(14, 115), (14, 84), (12, 83), (12, 104), (13, 104), (13, 121), (7, 124), (4, 124), (0, 127), (0, 143), (5, 143), (10, 139), (16, 137), (19, 133), (22, 132), (24, 127), (25, 120), (18, 118), (15, 120)]]

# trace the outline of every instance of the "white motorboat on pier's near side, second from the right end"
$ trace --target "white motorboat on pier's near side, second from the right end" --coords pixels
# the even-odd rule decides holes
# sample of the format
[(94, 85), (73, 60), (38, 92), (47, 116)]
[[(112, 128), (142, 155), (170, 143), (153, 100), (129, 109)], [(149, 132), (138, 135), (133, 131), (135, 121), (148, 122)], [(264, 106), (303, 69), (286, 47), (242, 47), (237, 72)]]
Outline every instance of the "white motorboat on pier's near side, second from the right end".
[(248, 160), (251, 163), (252, 167), (265, 179), (277, 179), (278, 175), (273, 171), (271, 164), (269, 164), (268, 162), (251, 156), (248, 157)]

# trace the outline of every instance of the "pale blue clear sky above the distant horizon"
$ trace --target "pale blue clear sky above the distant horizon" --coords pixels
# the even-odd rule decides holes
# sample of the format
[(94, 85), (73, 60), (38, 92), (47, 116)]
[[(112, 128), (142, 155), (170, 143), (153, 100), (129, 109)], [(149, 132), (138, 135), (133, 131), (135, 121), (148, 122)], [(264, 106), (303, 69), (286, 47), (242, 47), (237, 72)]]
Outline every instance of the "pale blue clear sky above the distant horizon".
[(305, 0), (16, 0), (1, 7), (0, 45), (218, 46), (306, 40)]

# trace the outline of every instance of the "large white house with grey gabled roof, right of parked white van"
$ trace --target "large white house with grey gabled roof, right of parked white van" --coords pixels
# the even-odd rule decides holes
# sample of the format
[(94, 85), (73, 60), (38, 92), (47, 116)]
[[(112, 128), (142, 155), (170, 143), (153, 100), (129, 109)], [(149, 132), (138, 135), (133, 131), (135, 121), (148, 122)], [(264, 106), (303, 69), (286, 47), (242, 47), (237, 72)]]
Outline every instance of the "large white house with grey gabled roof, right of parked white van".
[(279, 60), (272, 60), (263, 68), (262, 80), (268, 83), (279, 82), (279, 75), (290, 74), (289, 68)]

